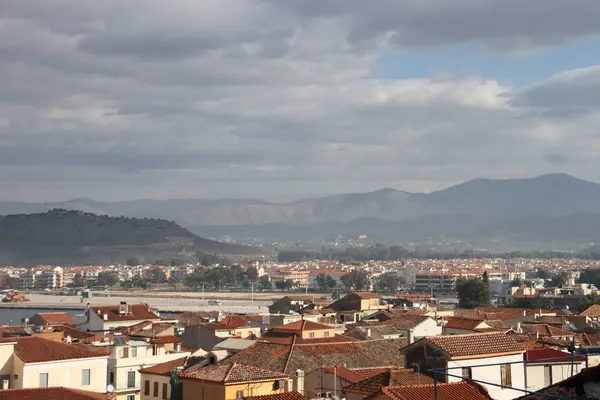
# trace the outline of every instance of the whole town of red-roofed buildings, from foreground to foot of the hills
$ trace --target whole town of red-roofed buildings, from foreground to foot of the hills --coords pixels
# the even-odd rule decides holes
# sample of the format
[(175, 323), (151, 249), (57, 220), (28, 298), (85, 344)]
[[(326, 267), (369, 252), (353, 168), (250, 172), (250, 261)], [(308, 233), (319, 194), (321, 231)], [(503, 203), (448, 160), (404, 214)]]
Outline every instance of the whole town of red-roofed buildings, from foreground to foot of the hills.
[[(596, 261), (131, 264), (0, 269), (4, 310), (57, 308), (0, 327), (0, 399), (508, 400), (600, 383)], [(215, 300), (133, 297), (189, 292)], [(271, 300), (228, 312), (233, 295)]]

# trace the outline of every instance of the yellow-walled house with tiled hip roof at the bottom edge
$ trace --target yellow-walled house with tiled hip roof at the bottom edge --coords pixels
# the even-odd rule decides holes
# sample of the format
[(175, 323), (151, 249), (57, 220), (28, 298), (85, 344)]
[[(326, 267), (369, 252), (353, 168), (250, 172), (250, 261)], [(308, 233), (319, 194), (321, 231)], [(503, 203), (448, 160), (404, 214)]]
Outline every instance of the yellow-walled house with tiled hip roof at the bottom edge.
[(180, 376), (183, 400), (234, 400), (292, 391), (286, 374), (236, 362), (184, 371)]

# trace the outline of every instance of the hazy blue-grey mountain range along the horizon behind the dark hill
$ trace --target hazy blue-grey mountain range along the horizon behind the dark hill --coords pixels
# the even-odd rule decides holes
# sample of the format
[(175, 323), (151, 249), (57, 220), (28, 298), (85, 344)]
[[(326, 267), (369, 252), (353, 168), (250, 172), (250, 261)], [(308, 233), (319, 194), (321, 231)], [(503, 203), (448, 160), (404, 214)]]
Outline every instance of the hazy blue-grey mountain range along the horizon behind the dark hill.
[(326, 240), (367, 235), (388, 243), (584, 246), (600, 242), (600, 185), (567, 174), (473, 179), (432, 193), (381, 189), (288, 203), (264, 200), (89, 199), (54, 204), (0, 201), (0, 214), (53, 207), (159, 217), (207, 237)]

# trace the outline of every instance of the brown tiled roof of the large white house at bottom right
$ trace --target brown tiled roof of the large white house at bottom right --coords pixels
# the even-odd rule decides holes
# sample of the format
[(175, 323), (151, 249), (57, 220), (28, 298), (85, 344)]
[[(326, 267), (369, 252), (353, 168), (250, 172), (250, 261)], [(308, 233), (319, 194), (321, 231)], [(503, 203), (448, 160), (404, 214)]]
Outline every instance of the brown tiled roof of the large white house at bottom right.
[[(426, 340), (448, 353), (452, 358), (523, 353), (525, 348), (504, 333), (472, 333), (450, 336), (427, 336)], [(414, 345), (414, 343), (413, 343)]]

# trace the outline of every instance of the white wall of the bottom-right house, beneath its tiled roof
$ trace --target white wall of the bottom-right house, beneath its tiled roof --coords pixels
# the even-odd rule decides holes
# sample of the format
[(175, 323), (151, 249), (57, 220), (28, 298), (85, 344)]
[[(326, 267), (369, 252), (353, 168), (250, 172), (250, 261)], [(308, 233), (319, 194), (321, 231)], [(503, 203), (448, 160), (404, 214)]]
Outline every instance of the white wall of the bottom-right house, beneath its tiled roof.
[[(523, 354), (509, 355), (509, 356), (501, 356), (501, 357), (488, 357), (488, 358), (476, 358), (470, 360), (450, 360), (448, 362), (448, 368), (454, 367), (472, 367), (472, 378), (480, 381), (491, 382), (500, 385), (502, 383), (501, 380), (501, 372), (500, 365), (491, 365), (491, 366), (478, 366), (481, 364), (499, 364), (499, 363), (507, 363), (507, 362), (519, 362), (523, 361)], [(525, 389), (525, 371), (523, 367), (523, 363), (520, 364), (511, 364), (511, 377), (512, 377), (512, 387), (518, 389)], [(447, 371), (448, 373), (454, 375), (461, 375), (462, 370), (460, 368), (451, 369)], [(457, 377), (448, 377), (448, 382), (460, 382), (462, 379)], [(511, 389), (502, 389), (497, 386), (486, 385), (485, 383), (481, 383), (486, 387), (490, 396), (496, 400), (509, 400), (514, 399), (516, 397), (522, 396), (524, 393)]]

